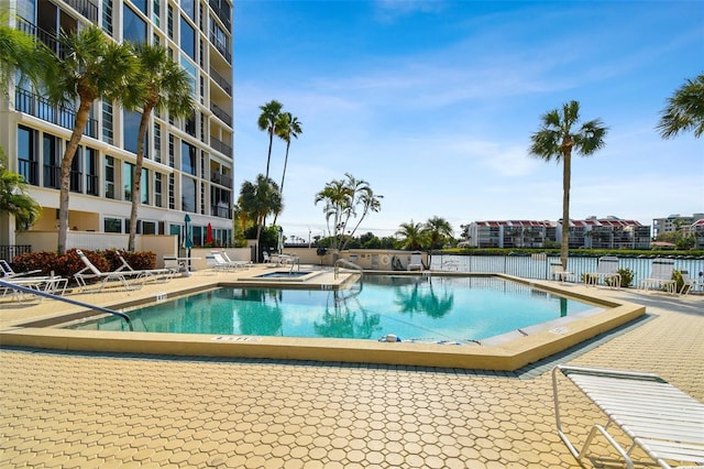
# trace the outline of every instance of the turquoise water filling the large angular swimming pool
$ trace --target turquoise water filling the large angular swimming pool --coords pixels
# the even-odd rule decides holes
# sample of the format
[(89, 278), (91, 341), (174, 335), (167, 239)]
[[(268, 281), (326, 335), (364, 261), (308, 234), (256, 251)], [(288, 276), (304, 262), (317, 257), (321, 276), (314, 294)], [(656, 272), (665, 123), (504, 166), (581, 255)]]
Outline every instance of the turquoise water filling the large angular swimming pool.
[[(222, 287), (129, 315), (150, 332), (469, 342), (594, 309), (496, 277), (370, 275), (345, 291)], [(69, 328), (123, 330), (124, 320)]]

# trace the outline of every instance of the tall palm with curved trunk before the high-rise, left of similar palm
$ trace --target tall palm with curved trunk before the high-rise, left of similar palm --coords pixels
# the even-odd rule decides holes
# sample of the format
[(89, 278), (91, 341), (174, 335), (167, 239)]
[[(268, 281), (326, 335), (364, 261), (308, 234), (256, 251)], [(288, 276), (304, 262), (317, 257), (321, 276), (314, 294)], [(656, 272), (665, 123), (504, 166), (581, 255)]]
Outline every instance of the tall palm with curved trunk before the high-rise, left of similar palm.
[(95, 25), (70, 34), (62, 33), (58, 41), (62, 57), (56, 57), (44, 76), (47, 97), (52, 103), (75, 105), (78, 101), (61, 168), (58, 253), (64, 254), (70, 166), (90, 117), (90, 107), (97, 99), (122, 102), (125, 94), (133, 92), (138, 85), (139, 63), (129, 44), (113, 43)]

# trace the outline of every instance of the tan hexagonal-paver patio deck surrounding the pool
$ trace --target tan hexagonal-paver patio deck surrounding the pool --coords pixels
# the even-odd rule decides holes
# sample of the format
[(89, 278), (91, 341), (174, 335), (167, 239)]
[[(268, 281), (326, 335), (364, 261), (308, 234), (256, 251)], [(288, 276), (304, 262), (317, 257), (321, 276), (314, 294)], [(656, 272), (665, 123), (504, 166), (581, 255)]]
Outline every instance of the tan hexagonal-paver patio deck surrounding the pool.
[[(601, 293), (652, 318), (560, 362), (654, 372), (704, 401), (704, 296)], [(553, 363), (491, 373), (1, 349), (0, 466), (578, 468), (554, 430)], [(578, 391), (568, 399), (578, 438), (578, 424), (605, 423)], [(600, 440), (584, 467), (624, 465)]]

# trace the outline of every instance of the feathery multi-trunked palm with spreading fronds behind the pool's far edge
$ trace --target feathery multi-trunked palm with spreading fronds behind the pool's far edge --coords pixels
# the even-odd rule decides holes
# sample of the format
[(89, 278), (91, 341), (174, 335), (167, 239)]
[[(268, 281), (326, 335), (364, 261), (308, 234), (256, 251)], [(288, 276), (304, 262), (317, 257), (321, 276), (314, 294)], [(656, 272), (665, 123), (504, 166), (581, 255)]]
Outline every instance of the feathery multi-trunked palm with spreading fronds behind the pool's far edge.
[[(322, 211), (326, 215), (328, 231), (332, 233), (330, 247), (340, 250), (346, 247), (350, 238), (354, 236), (371, 211), (381, 210), (381, 199), (384, 198), (382, 195), (374, 194), (366, 181), (356, 179), (350, 173), (345, 173), (344, 176), (345, 179), (333, 179), (316, 194), (316, 205), (320, 201), (324, 203)], [(348, 225), (353, 219), (358, 221), (348, 232)], [(332, 229), (330, 229), (330, 220), (332, 220)]]

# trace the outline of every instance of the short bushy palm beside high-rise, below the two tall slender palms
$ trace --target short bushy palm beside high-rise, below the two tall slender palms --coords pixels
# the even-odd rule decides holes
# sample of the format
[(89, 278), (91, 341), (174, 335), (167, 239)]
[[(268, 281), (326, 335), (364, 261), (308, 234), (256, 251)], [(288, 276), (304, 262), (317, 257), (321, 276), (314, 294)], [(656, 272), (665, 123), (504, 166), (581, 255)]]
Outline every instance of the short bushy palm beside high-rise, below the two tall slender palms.
[(256, 259), (258, 260), (264, 218), (280, 211), (283, 207), (278, 185), (263, 174), (256, 176), (255, 183), (245, 181), (240, 188), (238, 205), (241, 212), (256, 225)]

